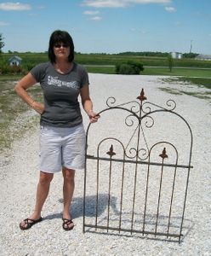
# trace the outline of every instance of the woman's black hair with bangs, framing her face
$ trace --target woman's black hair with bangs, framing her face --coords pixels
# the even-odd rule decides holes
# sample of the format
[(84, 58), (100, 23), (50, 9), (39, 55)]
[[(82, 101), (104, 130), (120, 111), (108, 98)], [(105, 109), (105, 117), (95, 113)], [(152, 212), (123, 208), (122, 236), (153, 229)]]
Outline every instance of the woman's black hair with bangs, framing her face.
[(54, 31), (49, 39), (48, 46), (48, 58), (52, 63), (55, 63), (54, 47), (63, 45), (65, 47), (70, 47), (70, 55), (68, 56), (68, 61), (74, 60), (74, 44), (70, 34), (66, 31), (56, 30)]

